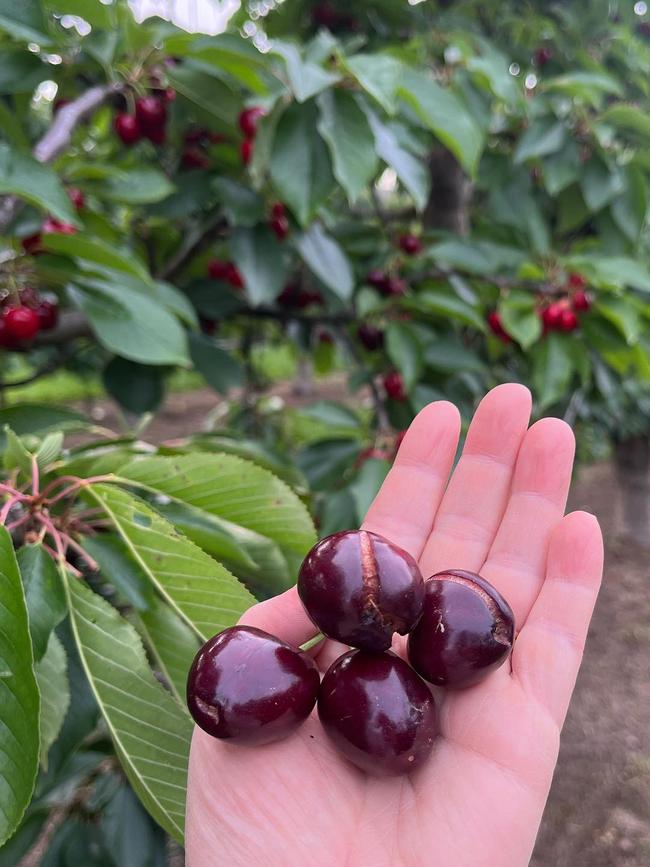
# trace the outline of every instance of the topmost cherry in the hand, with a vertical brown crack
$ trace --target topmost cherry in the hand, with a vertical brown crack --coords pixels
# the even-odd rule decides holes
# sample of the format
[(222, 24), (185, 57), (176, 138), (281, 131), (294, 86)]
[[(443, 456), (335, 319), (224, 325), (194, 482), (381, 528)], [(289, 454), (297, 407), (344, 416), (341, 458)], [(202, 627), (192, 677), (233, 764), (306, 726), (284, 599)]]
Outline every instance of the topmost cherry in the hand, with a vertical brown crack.
[(329, 638), (363, 650), (388, 650), (420, 619), (424, 582), (406, 551), (366, 530), (322, 539), (305, 557), (298, 595)]

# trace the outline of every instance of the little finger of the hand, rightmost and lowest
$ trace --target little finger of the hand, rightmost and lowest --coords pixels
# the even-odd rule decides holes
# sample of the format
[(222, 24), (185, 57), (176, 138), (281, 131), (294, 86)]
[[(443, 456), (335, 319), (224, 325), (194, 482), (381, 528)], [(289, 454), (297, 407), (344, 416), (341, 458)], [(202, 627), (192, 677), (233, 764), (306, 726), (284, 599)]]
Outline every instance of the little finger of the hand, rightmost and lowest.
[(598, 521), (573, 512), (553, 531), (546, 578), (515, 642), (512, 666), (524, 690), (562, 727), (603, 572)]

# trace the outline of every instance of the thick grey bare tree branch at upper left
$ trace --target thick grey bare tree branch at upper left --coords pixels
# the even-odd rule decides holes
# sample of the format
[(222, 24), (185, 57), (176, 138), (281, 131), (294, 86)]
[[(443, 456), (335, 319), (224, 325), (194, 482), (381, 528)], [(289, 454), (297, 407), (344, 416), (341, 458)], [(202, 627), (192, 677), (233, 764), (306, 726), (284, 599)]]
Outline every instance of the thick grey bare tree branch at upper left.
[[(75, 127), (113, 93), (119, 91), (116, 84), (91, 87), (68, 105), (60, 108), (52, 125), (42, 139), (36, 143), (33, 155), (41, 163), (49, 163), (56, 159), (70, 144)], [(19, 196), (4, 196), (0, 199), (0, 233), (13, 221), (23, 207), (24, 202)]]

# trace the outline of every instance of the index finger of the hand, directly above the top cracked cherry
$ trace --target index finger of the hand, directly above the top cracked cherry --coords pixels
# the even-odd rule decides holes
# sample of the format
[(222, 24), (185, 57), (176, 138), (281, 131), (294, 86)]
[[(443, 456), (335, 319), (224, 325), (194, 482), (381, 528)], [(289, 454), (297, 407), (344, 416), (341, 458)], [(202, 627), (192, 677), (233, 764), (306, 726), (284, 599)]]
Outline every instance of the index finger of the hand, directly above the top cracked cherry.
[(459, 433), (460, 415), (452, 403), (430, 403), (418, 413), (368, 510), (364, 529), (419, 558), (451, 472)]

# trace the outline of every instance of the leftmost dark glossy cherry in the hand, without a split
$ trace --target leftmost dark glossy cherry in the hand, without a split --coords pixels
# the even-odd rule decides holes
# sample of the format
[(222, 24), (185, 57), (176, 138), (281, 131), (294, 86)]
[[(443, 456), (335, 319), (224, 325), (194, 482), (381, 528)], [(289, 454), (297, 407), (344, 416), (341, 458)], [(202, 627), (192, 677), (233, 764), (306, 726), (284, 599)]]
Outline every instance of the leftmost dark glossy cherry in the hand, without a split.
[(319, 681), (306, 653), (261, 629), (233, 626), (194, 658), (187, 706), (209, 735), (259, 746), (281, 740), (307, 719)]

